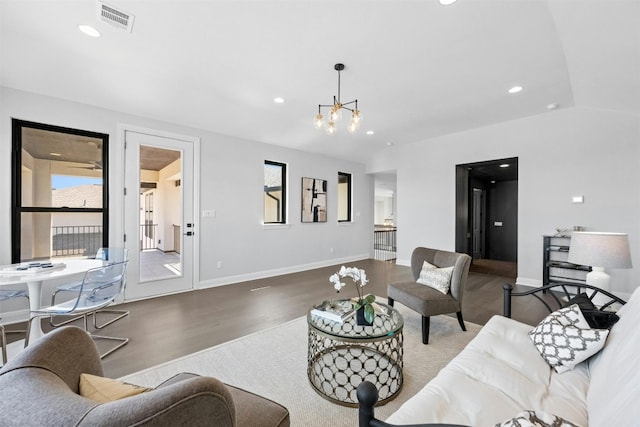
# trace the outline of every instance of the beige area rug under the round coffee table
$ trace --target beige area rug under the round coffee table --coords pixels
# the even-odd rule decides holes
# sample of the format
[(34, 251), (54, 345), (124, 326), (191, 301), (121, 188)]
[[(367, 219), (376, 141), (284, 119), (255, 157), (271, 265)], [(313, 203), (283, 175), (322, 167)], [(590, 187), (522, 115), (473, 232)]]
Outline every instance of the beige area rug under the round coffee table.
[[(395, 399), (376, 408), (385, 419), (456, 356), (475, 337), (480, 326), (457, 319), (431, 318), (429, 344), (421, 340), (420, 316), (400, 306), (404, 325), (404, 384)], [(179, 372), (207, 375), (249, 390), (286, 406), (291, 425), (357, 426), (358, 409), (339, 406), (318, 395), (307, 378), (307, 321), (300, 317), (121, 378), (155, 387)]]

